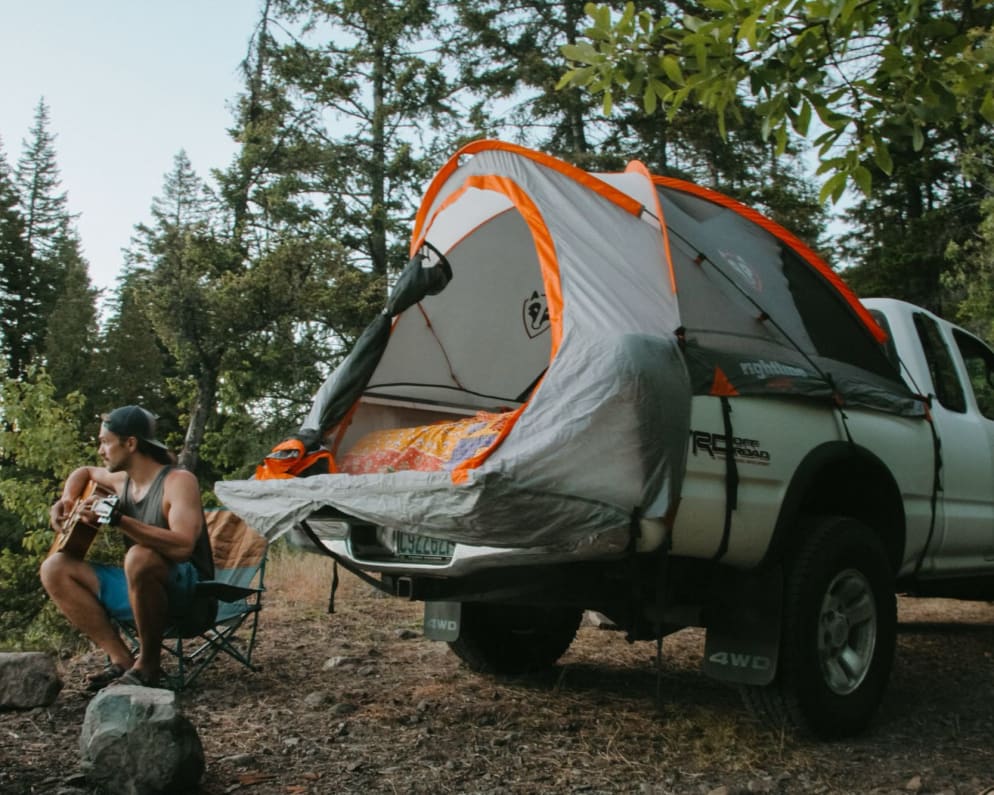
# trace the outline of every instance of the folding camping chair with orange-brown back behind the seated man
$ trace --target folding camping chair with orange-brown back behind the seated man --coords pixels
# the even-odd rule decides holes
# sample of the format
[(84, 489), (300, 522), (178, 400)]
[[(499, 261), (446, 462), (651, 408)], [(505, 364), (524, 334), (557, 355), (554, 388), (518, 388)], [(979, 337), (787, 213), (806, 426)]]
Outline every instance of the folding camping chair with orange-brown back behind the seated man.
[[(217, 658), (225, 654), (250, 670), (262, 610), (266, 569), (266, 539), (224, 508), (205, 511), (214, 556), (214, 579), (197, 584), (197, 591), (217, 598), (214, 624), (194, 637), (167, 628), (162, 648), (176, 662), (164, 670), (163, 684), (172, 690), (188, 687)], [(138, 632), (132, 621), (115, 622), (134, 649)], [(164, 659), (165, 662), (165, 659)]]

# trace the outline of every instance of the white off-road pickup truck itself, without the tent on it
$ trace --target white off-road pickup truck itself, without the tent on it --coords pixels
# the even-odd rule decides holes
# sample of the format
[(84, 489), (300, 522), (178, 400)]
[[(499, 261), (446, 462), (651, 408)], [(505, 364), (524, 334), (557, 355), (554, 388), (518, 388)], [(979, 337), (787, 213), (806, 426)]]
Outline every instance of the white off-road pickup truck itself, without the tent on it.
[(633, 557), (549, 565), (526, 549), (342, 529), (333, 511), (297, 538), (424, 600), (425, 634), (475, 670), (552, 665), (583, 610), (631, 641), (702, 626), (704, 671), (762, 720), (857, 732), (890, 673), (896, 593), (994, 599), (994, 352), (925, 309), (864, 303), (930, 420), (852, 410), (844, 426), (817, 405), (738, 398), (729, 444), (720, 400), (695, 396), (679, 511), (669, 533), (643, 526)]

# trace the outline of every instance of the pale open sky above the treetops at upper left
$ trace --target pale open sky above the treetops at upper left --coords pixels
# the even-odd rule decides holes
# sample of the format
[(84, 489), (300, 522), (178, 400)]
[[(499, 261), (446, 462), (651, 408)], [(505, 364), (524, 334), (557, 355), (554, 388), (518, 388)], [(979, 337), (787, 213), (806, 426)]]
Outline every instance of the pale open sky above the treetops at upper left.
[(257, 0), (0, 0), (0, 145), (13, 169), (38, 101), (95, 287), (113, 289), (173, 158), (228, 164)]

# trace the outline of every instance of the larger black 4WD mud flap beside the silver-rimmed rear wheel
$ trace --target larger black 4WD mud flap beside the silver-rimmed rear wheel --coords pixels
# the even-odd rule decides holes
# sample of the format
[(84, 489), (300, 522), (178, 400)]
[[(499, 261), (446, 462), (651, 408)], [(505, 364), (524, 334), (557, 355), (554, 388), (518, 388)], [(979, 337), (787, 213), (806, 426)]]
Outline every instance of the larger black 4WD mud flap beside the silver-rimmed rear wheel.
[(780, 567), (728, 572), (707, 611), (704, 673), (723, 682), (768, 685), (777, 673), (783, 606)]

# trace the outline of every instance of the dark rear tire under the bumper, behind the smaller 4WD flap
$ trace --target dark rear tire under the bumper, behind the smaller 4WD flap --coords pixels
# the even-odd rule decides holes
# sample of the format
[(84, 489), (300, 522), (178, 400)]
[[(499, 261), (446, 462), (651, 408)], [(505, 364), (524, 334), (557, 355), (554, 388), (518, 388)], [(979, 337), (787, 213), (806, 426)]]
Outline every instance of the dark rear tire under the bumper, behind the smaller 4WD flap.
[(562, 657), (582, 617), (573, 607), (464, 602), (459, 638), (449, 648), (480, 673), (532, 673)]

